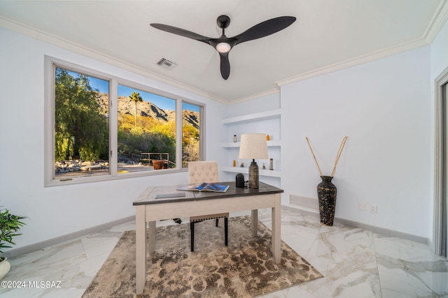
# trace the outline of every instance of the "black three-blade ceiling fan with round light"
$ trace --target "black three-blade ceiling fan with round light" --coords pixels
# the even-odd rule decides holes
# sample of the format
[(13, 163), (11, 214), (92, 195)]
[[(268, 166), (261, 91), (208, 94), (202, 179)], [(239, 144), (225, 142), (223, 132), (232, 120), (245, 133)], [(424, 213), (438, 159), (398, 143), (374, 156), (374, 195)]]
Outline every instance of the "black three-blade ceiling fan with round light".
[(295, 17), (274, 17), (273, 19), (266, 20), (265, 22), (261, 22), (260, 24), (256, 24), (243, 33), (230, 38), (225, 36), (224, 33), (225, 28), (227, 28), (230, 24), (230, 17), (228, 17), (227, 15), (220, 15), (218, 19), (216, 19), (218, 27), (223, 29), (223, 35), (221, 35), (219, 38), (202, 36), (185, 29), (172, 27), (165, 24), (152, 23), (151, 26), (162, 31), (167, 31), (169, 33), (174, 33), (186, 38), (202, 41), (202, 43), (207, 43), (214, 47), (221, 57), (221, 75), (224, 80), (227, 80), (230, 75), (229, 52), (230, 50), (232, 50), (232, 47), (235, 47), (235, 45), (238, 45), (239, 43), (244, 43), (245, 41), (262, 38), (281, 31), (288, 27), (290, 24), (293, 24), (293, 22), (295, 22)]

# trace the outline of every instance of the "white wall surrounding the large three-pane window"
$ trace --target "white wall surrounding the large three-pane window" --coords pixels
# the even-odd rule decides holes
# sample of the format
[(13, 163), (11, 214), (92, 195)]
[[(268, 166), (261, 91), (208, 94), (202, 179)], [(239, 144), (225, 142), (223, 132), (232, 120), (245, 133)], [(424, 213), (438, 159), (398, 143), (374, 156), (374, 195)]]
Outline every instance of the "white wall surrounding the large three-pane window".
[(27, 216), (20, 248), (134, 215), (132, 202), (148, 185), (183, 184), (187, 172), (43, 187), (43, 61), (49, 55), (179, 94), (206, 105), (207, 158), (221, 157), (222, 111), (227, 105), (0, 28), (0, 205)]

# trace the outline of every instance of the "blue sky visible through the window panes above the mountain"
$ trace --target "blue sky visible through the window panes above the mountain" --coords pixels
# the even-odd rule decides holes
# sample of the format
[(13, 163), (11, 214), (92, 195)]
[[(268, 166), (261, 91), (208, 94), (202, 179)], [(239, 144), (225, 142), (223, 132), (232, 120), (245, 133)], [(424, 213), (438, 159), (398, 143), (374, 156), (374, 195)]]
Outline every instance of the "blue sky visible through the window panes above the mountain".
[[(76, 73), (69, 72), (71, 75), (76, 76)], [(98, 79), (97, 77), (89, 77), (87, 76), (90, 82), (90, 87), (98, 90), (102, 93), (109, 93), (109, 82), (106, 80)], [(156, 94), (151, 94), (145, 91), (141, 91), (139, 89), (134, 89), (130, 87), (126, 87), (123, 85), (118, 85), (118, 96), (130, 96), (133, 91), (136, 91), (140, 94), (141, 98), (145, 101), (151, 101), (151, 103), (157, 105), (162, 110), (176, 110), (176, 100), (171, 98), (166, 98), (163, 96), (159, 96)], [(199, 112), (199, 107), (197, 105), (190, 105), (189, 103), (183, 103), (183, 110), (192, 110), (195, 112)]]

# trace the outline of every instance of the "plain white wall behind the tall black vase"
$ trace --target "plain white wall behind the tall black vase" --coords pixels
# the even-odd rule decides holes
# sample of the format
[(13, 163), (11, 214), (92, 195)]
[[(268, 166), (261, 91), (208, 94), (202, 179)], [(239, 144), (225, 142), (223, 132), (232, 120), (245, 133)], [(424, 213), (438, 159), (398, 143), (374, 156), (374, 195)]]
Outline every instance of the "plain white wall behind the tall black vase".
[[(337, 165), (336, 216), (429, 237), (430, 47), (322, 75), (281, 89), (282, 187), (316, 198), (321, 181), (307, 147), (330, 175)], [(377, 204), (378, 213), (359, 211)]]

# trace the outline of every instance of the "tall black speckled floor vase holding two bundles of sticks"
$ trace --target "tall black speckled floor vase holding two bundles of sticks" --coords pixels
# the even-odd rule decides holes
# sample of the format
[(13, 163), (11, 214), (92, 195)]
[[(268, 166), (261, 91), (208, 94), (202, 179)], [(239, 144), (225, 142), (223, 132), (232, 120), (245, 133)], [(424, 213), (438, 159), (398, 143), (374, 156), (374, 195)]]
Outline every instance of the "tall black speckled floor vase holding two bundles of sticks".
[(335, 176), (336, 165), (337, 165), (337, 162), (339, 161), (339, 157), (342, 154), (342, 149), (344, 149), (347, 137), (345, 136), (344, 139), (342, 139), (342, 143), (339, 146), (339, 151), (337, 151), (335, 166), (333, 167), (331, 176), (324, 176), (322, 174), (321, 167), (319, 167), (316, 156), (314, 155), (314, 151), (311, 148), (311, 144), (309, 144), (308, 137), (305, 137), (305, 139), (307, 140), (308, 147), (309, 147), (309, 150), (311, 151), (311, 154), (313, 154), (314, 162), (317, 165), (317, 169), (318, 169), (319, 174), (321, 175), (321, 179), (322, 179), (321, 183), (319, 183), (317, 185), (317, 197), (318, 197), (318, 202), (319, 202), (319, 214), (321, 217), (321, 224), (332, 226), (333, 221), (335, 219), (337, 188), (336, 188), (335, 184), (332, 184), (331, 180)]

